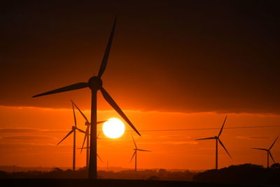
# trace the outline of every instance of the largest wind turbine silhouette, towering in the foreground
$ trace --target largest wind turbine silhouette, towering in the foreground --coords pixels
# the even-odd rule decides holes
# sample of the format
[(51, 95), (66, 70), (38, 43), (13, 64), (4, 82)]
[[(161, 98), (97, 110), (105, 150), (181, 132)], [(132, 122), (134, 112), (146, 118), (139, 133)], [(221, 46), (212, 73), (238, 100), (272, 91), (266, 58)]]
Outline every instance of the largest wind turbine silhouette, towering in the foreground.
[(92, 92), (92, 109), (91, 109), (91, 125), (90, 125), (90, 164), (89, 164), (89, 170), (88, 170), (88, 177), (90, 179), (97, 179), (97, 91), (100, 90), (102, 92), (102, 95), (106, 102), (108, 102), (113, 109), (115, 109), (120, 116), (132, 127), (132, 129), (141, 136), (141, 134), (137, 131), (137, 129), (134, 127), (134, 125), (130, 122), (130, 120), (125, 116), (125, 113), (120, 109), (118, 104), (113, 100), (113, 98), (109, 95), (109, 93), (104, 89), (102, 86), (102, 74), (104, 73), (106, 69), (106, 64), (109, 59), (109, 53), (112, 46), (113, 41), (113, 34), (115, 32), (116, 28), (116, 22), (117, 18), (115, 18), (115, 21), (113, 23), (113, 29), (111, 31), (111, 35), (108, 41), (108, 44), (106, 46), (106, 50), (104, 53), (104, 57), (102, 60), (102, 64), (99, 68), (99, 72), (97, 76), (92, 76), (87, 83), (75, 83), (73, 85), (67, 85), (62, 88), (58, 88), (56, 90), (51, 90), (49, 92), (43, 92), (39, 95), (34, 95), (33, 97), (39, 97), (43, 95), (50, 95), (55, 94), (59, 92), (66, 92), (70, 90), (78, 90), (81, 88), (90, 88)]

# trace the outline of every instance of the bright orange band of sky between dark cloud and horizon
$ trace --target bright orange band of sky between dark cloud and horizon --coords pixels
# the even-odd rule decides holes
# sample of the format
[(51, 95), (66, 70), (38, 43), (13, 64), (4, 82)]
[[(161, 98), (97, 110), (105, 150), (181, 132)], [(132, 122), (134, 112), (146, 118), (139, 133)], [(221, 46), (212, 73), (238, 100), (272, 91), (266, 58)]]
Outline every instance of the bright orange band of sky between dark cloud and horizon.
[[(84, 112), (89, 116), (90, 111)], [(56, 146), (73, 125), (71, 109), (1, 106), (0, 113), (0, 124), (3, 124), (0, 130), (0, 165), (71, 167), (72, 137)], [(211, 169), (214, 167), (215, 142), (195, 141), (195, 139), (214, 136), (218, 134), (218, 130), (168, 132), (144, 130), (221, 127), (225, 114), (157, 111), (125, 111), (125, 113), (142, 134), (142, 137), (137, 137), (137, 134), (133, 133), (139, 148), (153, 151), (139, 153), (139, 168)], [(119, 118), (114, 111), (99, 111), (98, 115), (99, 120)], [(279, 123), (280, 116), (230, 113), (225, 127), (279, 125)], [(85, 129), (83, 124), (83, 118), (78, 115), (78, 127)], [(126, 130), (131, 131), (130, 127), (127, 125), (126, 127)], [(22, 128), (27, 129), (22, 130)], [(279, 134), (279, 127), (225, 129), (221, 140), (233, 159), (230, 160), (220, 147), (219, 167), (246, 162), (265, 165), (265, 153), (251, 150), (251, 147), (269, 147), (277, 134)], [(77, 146), (80, 146), (83, 134), (78, 133), (77, 138)], [(130, 132), (125, 132), (119, 139), (108, 139), (102, 133), (100, 138), (98, 153), (105, 162), (99, 162), (99, 167), (106, 167), (107, 160), (111, 167), (134, 167), (133, 162), (129, 163), (134, 148)], [(276, 162), (279, 162), (279, 148), (277, 142), (272, 149)], [(85, 153), (80, 154), (77, 151), (76, 162), (78, 167), (83, 167)]]

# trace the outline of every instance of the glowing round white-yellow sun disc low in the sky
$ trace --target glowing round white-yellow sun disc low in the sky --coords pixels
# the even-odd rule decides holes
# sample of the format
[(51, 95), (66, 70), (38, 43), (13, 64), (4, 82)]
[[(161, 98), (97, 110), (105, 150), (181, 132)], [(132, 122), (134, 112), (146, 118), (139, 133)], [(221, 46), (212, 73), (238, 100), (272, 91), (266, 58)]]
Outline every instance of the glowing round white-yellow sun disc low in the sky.
[(103, 124), (102, 130), (106, 137), (115, 139), (123, 135), (125, 125), (118, 118), (111, 118)]

